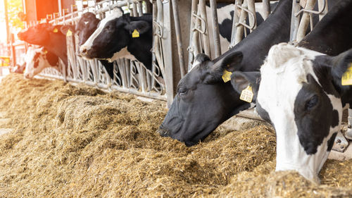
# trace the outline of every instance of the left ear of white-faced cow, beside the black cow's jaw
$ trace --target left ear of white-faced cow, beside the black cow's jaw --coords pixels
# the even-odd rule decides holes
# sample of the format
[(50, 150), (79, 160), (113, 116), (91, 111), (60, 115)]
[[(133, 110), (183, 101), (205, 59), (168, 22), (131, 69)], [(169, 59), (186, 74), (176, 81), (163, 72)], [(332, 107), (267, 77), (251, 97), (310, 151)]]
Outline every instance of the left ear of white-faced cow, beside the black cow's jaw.
[(256, 100), (260, 83), (260, 72), (240, 72), (235, 71), (231, 75), (231, 85), (234, 90), (241, 94), (246, 87), (252, 87), (253, 101)]

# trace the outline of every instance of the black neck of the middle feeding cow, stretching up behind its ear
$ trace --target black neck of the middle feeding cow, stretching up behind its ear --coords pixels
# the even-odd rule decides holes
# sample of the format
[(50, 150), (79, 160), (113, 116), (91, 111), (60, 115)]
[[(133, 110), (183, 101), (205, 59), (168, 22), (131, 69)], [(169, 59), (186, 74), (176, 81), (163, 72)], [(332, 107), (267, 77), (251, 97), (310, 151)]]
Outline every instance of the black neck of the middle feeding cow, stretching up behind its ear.
[(235, 70), (258, 70), (263, 64), (270, 47), (280, 42), (289, 41), (291, 10), (292, 0), (279, 1), (272, 14), (256, 30), (225, 53), (242, 51), (244, 54), (241, 65)]

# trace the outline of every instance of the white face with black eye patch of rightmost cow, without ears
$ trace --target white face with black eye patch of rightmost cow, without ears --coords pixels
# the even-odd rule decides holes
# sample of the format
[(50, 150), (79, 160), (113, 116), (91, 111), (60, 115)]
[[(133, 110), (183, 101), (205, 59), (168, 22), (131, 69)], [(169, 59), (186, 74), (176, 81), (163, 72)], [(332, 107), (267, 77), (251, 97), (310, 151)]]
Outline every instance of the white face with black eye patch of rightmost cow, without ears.
[(315, 57), (322, 55), (288, 44), (273, 46), (260, 68), (257, 98), (258, 113), (268, 113), (276, 130), (276, 171), (298, 171), (315, 182), (342, 116), (341, 99), (322, 89), (313, 70)]

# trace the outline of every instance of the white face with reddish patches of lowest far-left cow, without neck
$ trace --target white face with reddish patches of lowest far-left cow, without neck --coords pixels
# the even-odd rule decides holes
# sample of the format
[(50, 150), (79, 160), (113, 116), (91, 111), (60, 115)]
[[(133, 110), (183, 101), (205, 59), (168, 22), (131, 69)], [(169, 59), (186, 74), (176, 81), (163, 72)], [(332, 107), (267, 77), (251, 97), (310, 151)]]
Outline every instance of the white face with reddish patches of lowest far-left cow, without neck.
[(35, 48), (29, 47), (25, 55), (25, 78), (34, 78), (34, 75), (41, 73), (44, 68), (50, 67), (50, 63), (46, 60), (46, 50), (44, 47)]

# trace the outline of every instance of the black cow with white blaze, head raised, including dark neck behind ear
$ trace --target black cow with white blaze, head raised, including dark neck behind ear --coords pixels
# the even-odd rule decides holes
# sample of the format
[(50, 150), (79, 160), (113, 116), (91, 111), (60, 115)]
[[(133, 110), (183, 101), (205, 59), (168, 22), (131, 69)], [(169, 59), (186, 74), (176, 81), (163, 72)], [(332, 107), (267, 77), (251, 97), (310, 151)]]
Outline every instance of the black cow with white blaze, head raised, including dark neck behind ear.
[[(132, 37), (133, 32), (137, 32)], [(113, 13), (101, 20), (98, 28), (80, 47), (87, 58), (130, 58), (142, 62), (151, 70), (152, 16), (130, 17)]]

